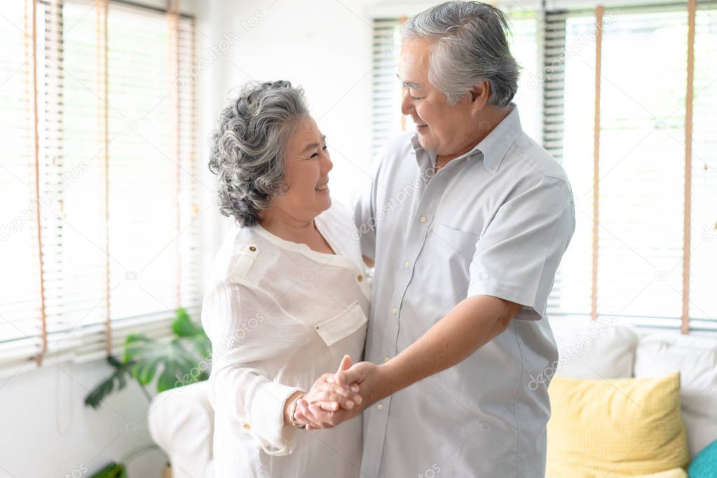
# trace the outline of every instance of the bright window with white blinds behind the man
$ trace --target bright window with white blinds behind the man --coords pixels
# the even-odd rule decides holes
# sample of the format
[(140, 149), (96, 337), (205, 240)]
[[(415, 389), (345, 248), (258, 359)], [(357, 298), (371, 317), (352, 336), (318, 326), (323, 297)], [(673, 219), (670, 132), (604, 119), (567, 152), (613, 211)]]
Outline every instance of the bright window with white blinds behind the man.
[[(714, 330), (717, 5), (612, 3), (504, 8), (523, 129), (564, 166), (576, 201), (549, 313)], [(397, 100), (388, 113), (376, 97), (374, 150), (401, 124)]]

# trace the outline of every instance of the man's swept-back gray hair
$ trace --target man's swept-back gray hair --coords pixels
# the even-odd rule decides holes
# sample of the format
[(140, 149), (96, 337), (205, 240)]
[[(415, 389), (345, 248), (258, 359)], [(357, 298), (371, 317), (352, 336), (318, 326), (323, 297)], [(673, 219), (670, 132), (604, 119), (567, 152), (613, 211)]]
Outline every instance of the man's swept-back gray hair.
[(508, 47), (508, 17), (480, 1), (447, 1), (404, 23), (404, 38), (434, 39), (428, 80), (455, 105), (482, 81), (488, 104), (508, 106), (518, 90), (518, 63)]

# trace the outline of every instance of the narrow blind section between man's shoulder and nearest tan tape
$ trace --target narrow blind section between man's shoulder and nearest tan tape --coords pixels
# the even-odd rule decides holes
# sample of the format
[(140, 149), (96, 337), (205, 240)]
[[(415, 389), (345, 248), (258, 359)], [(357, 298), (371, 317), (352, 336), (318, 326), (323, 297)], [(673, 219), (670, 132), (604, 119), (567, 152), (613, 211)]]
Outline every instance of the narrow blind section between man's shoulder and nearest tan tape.
[(576, 209), (573, 238), (559, 268), (560, 295), (554, 290), (551, 296), (554, 315), (587, 315), (591, 305), (594, 26), (594, 16), (546, 14), (543, 147), (570, 178)]

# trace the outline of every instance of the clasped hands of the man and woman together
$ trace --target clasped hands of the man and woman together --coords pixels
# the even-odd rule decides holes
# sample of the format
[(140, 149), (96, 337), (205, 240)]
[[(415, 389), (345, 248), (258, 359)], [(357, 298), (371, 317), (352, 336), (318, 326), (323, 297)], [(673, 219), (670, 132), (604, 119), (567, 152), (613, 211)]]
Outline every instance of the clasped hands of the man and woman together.
[(352, 366), (351, 357), (344, 355), (336, 373), (324, 373), (308, 393), (297, 398), (294, 421), (305, 424), (307, 430), (328, 429), (358, 416), (381, 398), (376, 396), (378, 370), (370, 362)]

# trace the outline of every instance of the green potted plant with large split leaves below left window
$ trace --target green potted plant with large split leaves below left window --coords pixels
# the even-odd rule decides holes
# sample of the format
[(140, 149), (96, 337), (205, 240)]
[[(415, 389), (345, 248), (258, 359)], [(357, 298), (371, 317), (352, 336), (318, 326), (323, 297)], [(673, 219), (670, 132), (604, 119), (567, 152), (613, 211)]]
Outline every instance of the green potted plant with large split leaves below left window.
[[(160, 393), (209, 378), (206, 373), (208, 367), (199, 366), (206, 363), (212, 354), (211, 342), (201, 326), (192, 322), (186, 310), (180, 307), (172, 321), (172, 331), (174, 336), (169, 341), (142, 334), (129, 335), (121, 360), (108, 355), (107, 361), (113, 372), (87, 393), (85, 406), (98, 408), (105, 398), (125, 388), (131, 380), (138, 383), (149, 404), (152, 397), (147, 387), (155, 379), (157, 393)], [(107, 464), (92, 478), (127, 478), (126, 465), (135, 457), (156, 448), (156, 445), (144, 445), (130, 450), (119, 462)]]

